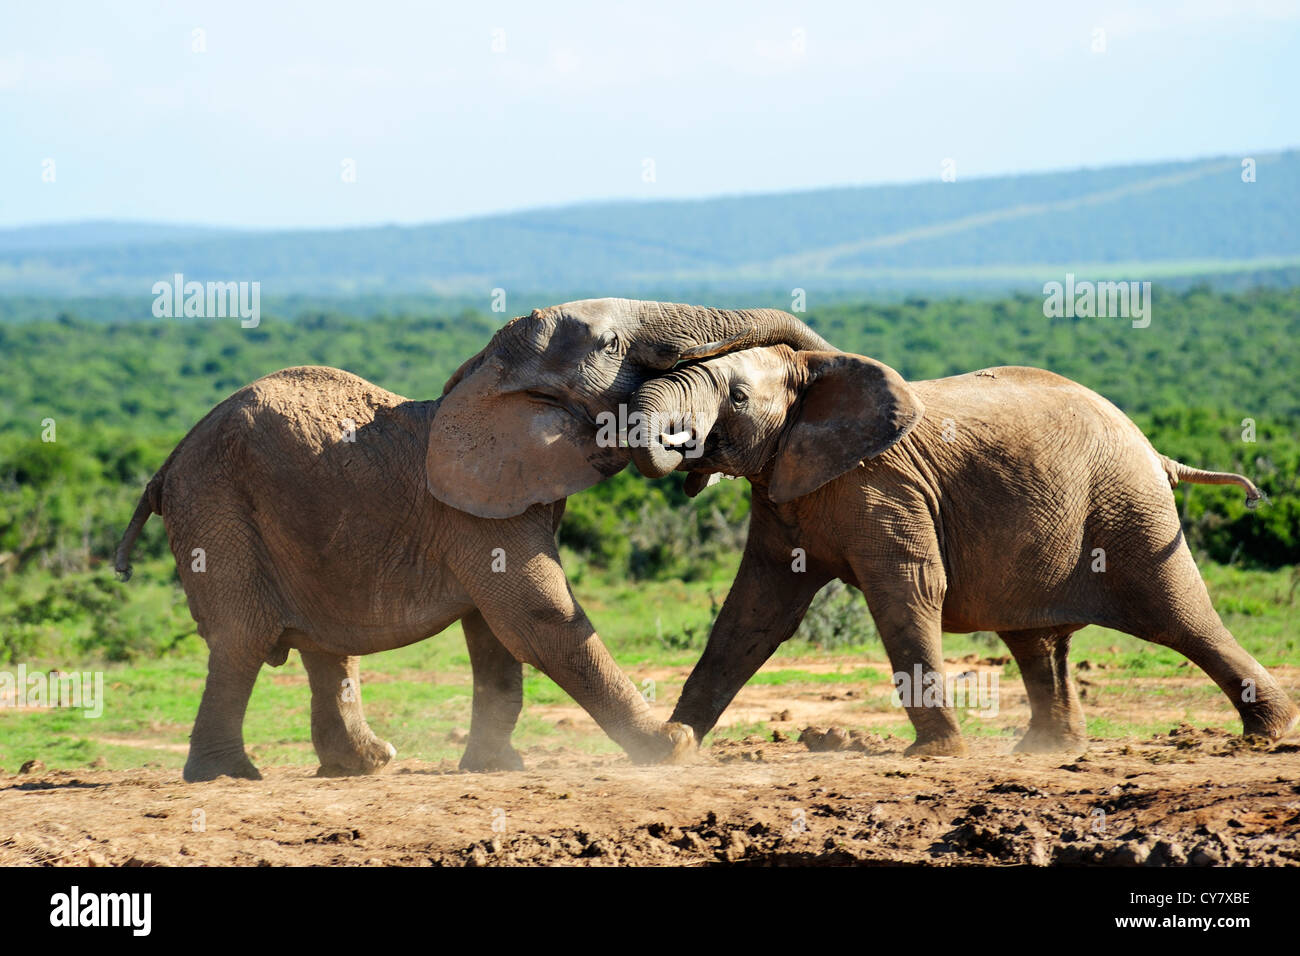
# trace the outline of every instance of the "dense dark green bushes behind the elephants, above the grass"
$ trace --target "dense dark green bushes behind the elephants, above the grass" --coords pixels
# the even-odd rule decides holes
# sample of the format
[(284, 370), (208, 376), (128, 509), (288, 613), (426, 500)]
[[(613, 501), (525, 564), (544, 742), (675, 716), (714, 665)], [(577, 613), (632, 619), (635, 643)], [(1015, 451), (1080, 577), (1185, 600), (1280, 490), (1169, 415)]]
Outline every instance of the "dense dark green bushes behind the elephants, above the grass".
[[(1030, 297), (842, 304), (806, 317), (836, 345), (909, 378), (996, 364), (1072, 377), (1117, 402), (1166, 454), (1243, 471), (1273, 499), (1248, 514), (1235, 488), (1179, 490), (1195, 548), (1218, 561), (1300, 561), (1300, 290), (1157, 289), (1145, 329), (1117, 319), (1049, 320), (1041, 299)], [(434, 397), (499, 324), (497, 315), (432, 306), (369, 320), (266, 317), (256, 329), (237, 320), (91, 324), (68, 313), (0, 325), (3, 567), (25, 575), (101, 566), (173, 445), (261, 375), (329, 364), (412, 398)], [(42, 441), (48, 420), (53, 442)], [(1252, 427), (1254, 441), (1243, 440)], [(723, 485), (696, 502), (679, 489), (676, 479), (620, 475), (573, 499), (564, 540), (619, 572), (707, 566), (708, 540), (719, 548), (741, 540), (746, 485)], [(667, 509), (708, 525), (701, 531), (706, 546), (688, 549), (680, 535), (663, 531), (684, 527), (662, 520)], [(160, 523), (150, 524), (142, 551), (165, 554)]]

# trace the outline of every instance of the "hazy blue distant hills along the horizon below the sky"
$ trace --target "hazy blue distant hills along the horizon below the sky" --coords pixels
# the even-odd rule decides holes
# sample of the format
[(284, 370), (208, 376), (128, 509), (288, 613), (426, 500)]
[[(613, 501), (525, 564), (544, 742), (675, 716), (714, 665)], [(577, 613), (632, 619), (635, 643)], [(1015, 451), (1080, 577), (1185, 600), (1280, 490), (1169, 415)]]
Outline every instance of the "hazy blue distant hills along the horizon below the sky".
[(142, 295), (181, 272), (264, 297), (507, 290), (1030, 289), (1066, 271), (1300, 277), (1300, 152), (703, 200), (592, 203), (420, 226), (0, 230), (0, 294)]

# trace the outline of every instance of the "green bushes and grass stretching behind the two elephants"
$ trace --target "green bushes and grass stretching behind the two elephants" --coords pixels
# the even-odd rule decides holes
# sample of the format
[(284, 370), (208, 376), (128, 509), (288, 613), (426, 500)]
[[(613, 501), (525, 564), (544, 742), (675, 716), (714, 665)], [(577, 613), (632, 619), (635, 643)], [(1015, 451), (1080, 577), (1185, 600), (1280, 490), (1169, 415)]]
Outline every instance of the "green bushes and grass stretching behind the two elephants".
[[(183, 758), (174, 748), (185, 743), (204, 666), (160, 520), (136, 545), (133, 581), (112, 576), (113, 548), (150, 475), (213, 405), (287, 365), (332, 364), (413, 398), (437, 395), (502, 316), (432, 303), (369, 317), (264, 315), (257, 329), (242, 329), (220, 319), (92, 321), (75, 308), (64, 302), (46, 308), (49, 319), (0, 324), (0, 666), (108, 663), (117, 689), (110, 711), (88, 726), (68, 714), (0, 715), (0, 766), (13, 769), (29, 750), (47, 763), (138, 763), (138, 747), (104, 739), (138, 736), (140, 726), (173, 744), (153, 754), (170, 765)], [(1290, 620), (1300, 587), (1300, 290), (1157, 289), (1145, 329), (1119, 319), (1049, 320), (1035, 297), (838, 303), (806, 319), (836, 345), (910, 378), (993, 364), (1052, 368), (1113, 399), (1165, 454), (1249, 475), (1268, 506), (1248, 512), (1235, 486), (1183, 486), (1184, 531), (1238, 639), (1266, 666), (1297, 659)], [(42, 441), (47, 419), (53, 442)], [(1247, 419), (1253, 442), (1243, 440)], [(560, 528), (566, 568), (629, 672), (694, 661), (734, 575), (748, 515), (745, 481), (689, 499), (681, 476), (646, 481), (632, 471), (569, 499)], [(987, 635), (945, 640), (949, 656), (1004, 650)], [(861, 594), (840, 584), (818, 596), (797, 640), (779, 653), (881, 658)], [(1100, 628), (1076, 636), (1075, 658), (1128, 675), (1188, 674), (1178, 654)], [(407, 754), (452, 756), (458, 747), (438, 743), (437, 730), (468, 722), (459, 631), (365, 666), (393, 678), (368, 684), (376, 726), (386, 724)], [(263, 744), (259, 760), (309, 761), (306, 688), (280, 679), (295, 672), (296, 659), (259, 683), (248, 739), (282, 741)], [(430, 683), (434, 674), (447, 682)], [(764, 679), (784, 683), (780, 674)], [(528, 693), (534, 702), (563, 698), (541, 675), (530, 676)], [(525, 722), (523, 734), (571, 743), (540, 723)]]

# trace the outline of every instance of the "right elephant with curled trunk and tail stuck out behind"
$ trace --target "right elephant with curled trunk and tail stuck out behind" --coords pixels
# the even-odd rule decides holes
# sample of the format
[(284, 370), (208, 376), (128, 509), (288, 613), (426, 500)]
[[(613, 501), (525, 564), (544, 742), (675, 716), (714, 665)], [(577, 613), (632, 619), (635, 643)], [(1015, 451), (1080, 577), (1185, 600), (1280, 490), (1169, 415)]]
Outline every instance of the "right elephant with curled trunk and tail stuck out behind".
[[(1036, 368), (909, 384), (868, 358), (766, 347), (653, 378), (632, 412), (668, 425), (633, 447), (645, 475), (690, 471), (690, 494), (710, 472), (753, 486), (740, 571), (671, 717), (697, 740), (835, 578), (864, 593), (896, 675), (942, 675), (941, 631), (996, 631), (1030, 698), (1019, 750), (1087, 744), (1067, 670), (1084, 624), (1187, 656), (1248, 734), (1296, 723), (1214, 613), (1171, 488), (1235, 483), (1249, 503), (1258, 490), (1158, 454), (1082, 385)], [(907, 715), (907, 753), (965, 750), (948, 700)]]

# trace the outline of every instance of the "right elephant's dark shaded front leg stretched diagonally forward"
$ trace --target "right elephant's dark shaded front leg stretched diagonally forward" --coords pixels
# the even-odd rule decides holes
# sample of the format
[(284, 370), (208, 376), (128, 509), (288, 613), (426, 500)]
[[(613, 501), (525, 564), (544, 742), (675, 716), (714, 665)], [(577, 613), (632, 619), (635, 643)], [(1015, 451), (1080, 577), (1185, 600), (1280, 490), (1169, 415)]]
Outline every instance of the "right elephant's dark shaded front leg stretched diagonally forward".
[(736, 581), (692, 669), (671, 721), (702, 741), (746, 682), (789, 640), (828, 578), (796, 572), (789, 562), (766, 561), (746, 548)]

